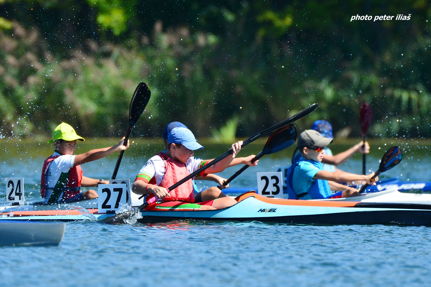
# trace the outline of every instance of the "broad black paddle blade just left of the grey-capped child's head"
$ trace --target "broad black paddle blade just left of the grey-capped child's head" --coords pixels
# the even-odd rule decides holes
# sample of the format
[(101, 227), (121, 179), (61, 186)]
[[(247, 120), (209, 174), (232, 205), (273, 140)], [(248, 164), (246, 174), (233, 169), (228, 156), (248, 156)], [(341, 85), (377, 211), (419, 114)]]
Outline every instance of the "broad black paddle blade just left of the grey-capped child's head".
[(276, 130), (268, 139), (262, 150), (263, 154), (272, 154), (293, 145), (297, 138), (296, 127), (288, 124)]

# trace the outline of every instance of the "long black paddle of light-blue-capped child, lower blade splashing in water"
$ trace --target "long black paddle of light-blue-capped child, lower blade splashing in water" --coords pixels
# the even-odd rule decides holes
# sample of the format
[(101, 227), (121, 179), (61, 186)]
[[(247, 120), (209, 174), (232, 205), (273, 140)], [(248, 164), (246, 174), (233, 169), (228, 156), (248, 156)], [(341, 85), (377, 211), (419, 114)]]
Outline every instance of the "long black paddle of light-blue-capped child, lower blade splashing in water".
[[(244, 147), (245, 145), (248, 145), (250, 142), (253, 142), (254, 140), (258, 139), (259, 137), (272, 132), (273, 130), (277, 130), (280, 127), (284, 127), (285, 125), (289, 124), (289, 123), (293, 123), (296, 120), (299, 120), (302, 117), (305, 117), (306, 115), (310, 114), (312, 111), (314, 111), (317, 107), (319, 107), (318, 104), (312, 104), (309, 107), (303, 109), (302, 111), (298, 112), (297, 114), (294, 114), (293, 116), (281, 121), (280, 123), (275, 124), (272, 127), (267, 128), (266, 130), (262, 130), (259, 133), (254, 134), (253, 136), (251, 136), (250, 138), (246, 139), (243, 144), (241, 145), (241, 148)], [(218, 163), (220, 160), (224, 159), (225, 157), (228, 157), (229, 155), (232, 154), (232, 149), (230, 148), (228, 151), (226, 151), (224, 154), (220, 155), (219, 157), (216, 157), (215, 159), (211, 160), (208, 164), (204, 165), (203, 167), (200, 167), (199, 169), (197, 169), (194, 173), (191, 173), (190, 175), (184, 177), (183, 179), (181, 179), (180, 181), (174, 183), (173, 185), (171, 185), (169, 188), (167, 188), (169, 191), (177, 188), (178, 186), (180, 186), (181, 184), (183, 184), (184, 182), (186, 182), (187, 180), (193, 178), (194, 176), (197, 176), (199, 173), (201, 173), (203, 170), (206, 170), (209, 167), (212, 167), (214, 164)], [(140, 198), (144, 197), (141, 196)], [(141, 204), (138, 209), (144, 210), (145, 207), (147, 207), (148, 205), (154, 203), (157, 200), (157, 197), (153, 197), (150, 198), (149, 201), (144, 202), (144, 204)], [(105, 219), (102, 219), (100, 222), (101, 223), (108, 223), (108, 224), (118, 224), (118, 223), (125, 223), (127, 222), (127, 219), (131, 218), (131, 216), (133, 216), (134, 214), (136, 214), (135, 210), (128, 210), (122, 213), (118, 213), (114, 216), (109, 216), (106, 217)]]

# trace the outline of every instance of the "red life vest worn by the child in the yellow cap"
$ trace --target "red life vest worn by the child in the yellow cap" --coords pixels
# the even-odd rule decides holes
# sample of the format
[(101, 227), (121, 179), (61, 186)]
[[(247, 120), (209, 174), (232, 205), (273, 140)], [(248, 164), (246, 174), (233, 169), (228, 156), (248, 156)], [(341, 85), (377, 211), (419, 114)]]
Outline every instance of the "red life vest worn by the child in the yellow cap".
[[(62, 187), (47, 187), (46, 182), (48, 179), (48, 170), (53, 160), (55, 160), (59, 155), (51, 155), (44, 161), (44, 166), (42, 167), (42, 176), (41, 176), (41, 196), (44, 197), (45, 191), (47, 189), (53, 189), (56, 191), (64, 191), (62, 200), (66, 200), (71, 198), (72, 196), (79, 194), (79, 190), (81, 189), (81, 180), (82, 180), (82, 169), (81, 165), (77, 165), (72, 167), (69, 170), (69, 177), (67, 178), (66, 184), (63, 184)], [(54, 185), (56, 186), (57, 183)]]

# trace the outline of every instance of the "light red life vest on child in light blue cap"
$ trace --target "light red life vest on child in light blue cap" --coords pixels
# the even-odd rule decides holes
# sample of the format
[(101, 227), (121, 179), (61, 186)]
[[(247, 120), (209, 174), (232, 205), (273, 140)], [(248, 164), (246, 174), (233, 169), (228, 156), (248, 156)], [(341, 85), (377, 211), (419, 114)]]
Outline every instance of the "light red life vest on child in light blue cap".
[[(172, 160), (167, 157), (165, 154), (160, 153), (159, 155), (164, 163), (165, 163), (165, 175), (163, 176), (162, 182), (160, 182), (159, 186), (164, 188), (169, 188), (174, 183), (179, 182), (186, 176), (190, 175), (190, 172), (187, 170), (185, 164), (180, 161)], [(165, 201), (186, 201), (190, 203), (194, 203), (194, 191), (193, 191), (193, 179), (189, 179), (184, 182), (182, 185), (177, 188), (169, 191), (169, 196), (163, 198), (162, 202)], [(156, 195), (151, 194), (147, 196), (147, 201), (150, 198), (155, 197)]]

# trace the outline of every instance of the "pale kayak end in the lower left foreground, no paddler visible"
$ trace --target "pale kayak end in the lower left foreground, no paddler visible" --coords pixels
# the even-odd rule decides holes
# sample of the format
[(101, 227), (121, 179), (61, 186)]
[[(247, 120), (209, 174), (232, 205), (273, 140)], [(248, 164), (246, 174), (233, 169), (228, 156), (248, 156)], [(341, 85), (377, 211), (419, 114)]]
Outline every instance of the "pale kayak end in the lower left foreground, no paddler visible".
[(66, 223), (0, 219), (0, 246), (58, 245)]

